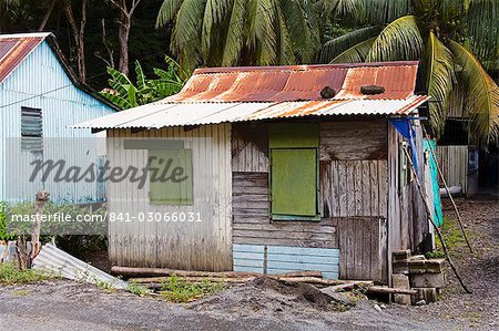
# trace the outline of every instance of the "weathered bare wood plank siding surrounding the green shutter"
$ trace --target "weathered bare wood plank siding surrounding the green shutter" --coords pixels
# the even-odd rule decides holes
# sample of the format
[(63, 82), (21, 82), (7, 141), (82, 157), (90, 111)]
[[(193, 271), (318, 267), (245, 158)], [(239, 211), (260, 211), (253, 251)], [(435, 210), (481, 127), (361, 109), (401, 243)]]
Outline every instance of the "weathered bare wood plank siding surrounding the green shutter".
[(339, 248), (342, 278), (386, 281), (387, 122), (322, 122), (319, 139), (320, 221), (272, 221), (267, 126), (233, 126), (233, 242)]

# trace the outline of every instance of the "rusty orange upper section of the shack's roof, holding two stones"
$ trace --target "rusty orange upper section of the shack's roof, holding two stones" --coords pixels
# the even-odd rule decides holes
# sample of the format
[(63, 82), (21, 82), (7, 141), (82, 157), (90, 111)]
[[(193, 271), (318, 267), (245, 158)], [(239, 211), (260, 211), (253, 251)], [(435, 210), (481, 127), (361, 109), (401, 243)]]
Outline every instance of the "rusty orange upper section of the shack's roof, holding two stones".
[[(163, 102), (323, 101), (325, 86), (337, 92), (334, 99), (404, 100), (414, 95), (417, 69), (417, 61), (198, 69)], [(364, 95), (364, 85), (385, 92)]]

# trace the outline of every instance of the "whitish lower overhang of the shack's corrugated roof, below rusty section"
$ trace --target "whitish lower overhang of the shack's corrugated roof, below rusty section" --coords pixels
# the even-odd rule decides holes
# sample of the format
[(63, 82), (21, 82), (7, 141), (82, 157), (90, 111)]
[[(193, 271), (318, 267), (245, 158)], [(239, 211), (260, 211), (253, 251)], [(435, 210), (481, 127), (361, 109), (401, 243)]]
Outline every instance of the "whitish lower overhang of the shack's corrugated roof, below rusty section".
[(409, 115), (427, 100), (425, 95), (416, 95), (407, 100), (152, 103), (77, 124), (73, 127), (160, 128), (303, 116)]

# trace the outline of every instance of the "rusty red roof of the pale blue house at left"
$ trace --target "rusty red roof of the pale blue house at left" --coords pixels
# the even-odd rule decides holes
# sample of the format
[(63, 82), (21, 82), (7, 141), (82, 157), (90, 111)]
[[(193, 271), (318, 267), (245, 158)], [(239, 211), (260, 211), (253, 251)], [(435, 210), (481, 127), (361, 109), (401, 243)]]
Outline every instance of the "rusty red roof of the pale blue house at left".
[(50, 33), (0, 34), (0, 84)]

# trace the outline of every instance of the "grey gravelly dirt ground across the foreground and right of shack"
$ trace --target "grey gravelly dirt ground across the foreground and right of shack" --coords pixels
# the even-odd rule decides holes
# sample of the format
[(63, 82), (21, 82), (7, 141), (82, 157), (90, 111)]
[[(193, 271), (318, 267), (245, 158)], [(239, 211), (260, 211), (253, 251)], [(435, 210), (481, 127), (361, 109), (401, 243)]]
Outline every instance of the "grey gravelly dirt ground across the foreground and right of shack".
[[(387, 304), (359, 296), (330, 298), (314, 287), (256, 279), (203, 300), (174, 304), (159, 297), (109, 292), (49, 281), (0, 287), (2, 330), (499, 330), (499, 201), (458, 199), (475, 249), (451, 245), (473, 291), (465, 294), (450, 270), (440, 301)], [(450, 205), (445, 211), (451, 223)], [(377, 307), (376, 307), (377, 306)]]

